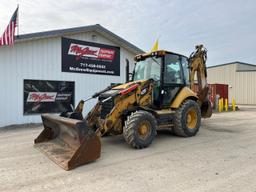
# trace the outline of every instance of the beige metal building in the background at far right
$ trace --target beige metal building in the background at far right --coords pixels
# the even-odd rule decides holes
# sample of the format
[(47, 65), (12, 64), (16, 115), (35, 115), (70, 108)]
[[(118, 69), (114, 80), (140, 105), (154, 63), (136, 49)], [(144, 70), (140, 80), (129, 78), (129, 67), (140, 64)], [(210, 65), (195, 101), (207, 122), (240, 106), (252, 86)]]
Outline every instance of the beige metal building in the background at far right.
[(208, 67), (208, 82), (229, 85), (229, 102), (256, 105), (256, 65), (232, 62)]

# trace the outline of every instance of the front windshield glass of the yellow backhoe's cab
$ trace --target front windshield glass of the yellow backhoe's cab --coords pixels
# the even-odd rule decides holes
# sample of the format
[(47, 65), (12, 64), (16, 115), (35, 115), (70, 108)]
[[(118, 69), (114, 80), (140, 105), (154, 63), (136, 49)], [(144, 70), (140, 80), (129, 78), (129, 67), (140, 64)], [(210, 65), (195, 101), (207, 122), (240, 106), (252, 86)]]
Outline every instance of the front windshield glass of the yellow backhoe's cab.
[(160, 80), (161, 62), (161, 57), (149, 57), (143, 61), (138, 61), (135, 66), (133, 80)]

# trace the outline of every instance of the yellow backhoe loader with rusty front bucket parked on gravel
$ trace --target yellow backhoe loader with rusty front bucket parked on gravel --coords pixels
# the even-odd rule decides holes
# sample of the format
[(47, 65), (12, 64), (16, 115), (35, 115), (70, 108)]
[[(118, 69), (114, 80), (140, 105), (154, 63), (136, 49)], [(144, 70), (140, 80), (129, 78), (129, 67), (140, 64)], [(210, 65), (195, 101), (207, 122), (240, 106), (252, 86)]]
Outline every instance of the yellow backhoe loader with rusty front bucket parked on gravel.
[[(81, 100), (72, 112), (42, 114), (44, 130), (34, 146), (70, 170), (100, 157), (105, 134), (123, 134), (136, 149), (148, 147), (163, 128), (181, 137), (196, 135), (201, 117), (212, 114), (206, 59), (203, 45), (189, 58), (164, 50), (137, 55), (131, 80), (90, 97), (97, 104), (86, 117), (82, 111), (89, 99)], [(197, 93), (192, 91), (195, 81)]]

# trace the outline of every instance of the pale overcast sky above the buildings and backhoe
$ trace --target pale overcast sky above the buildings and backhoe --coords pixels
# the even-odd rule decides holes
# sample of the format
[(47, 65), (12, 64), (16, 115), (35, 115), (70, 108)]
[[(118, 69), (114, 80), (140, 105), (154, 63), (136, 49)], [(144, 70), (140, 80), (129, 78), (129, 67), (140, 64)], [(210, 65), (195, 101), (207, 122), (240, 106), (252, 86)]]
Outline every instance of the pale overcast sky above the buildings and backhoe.
[(189, 55), (208, 49), (208, 64), (256, 64), (255, 0), (0, 0), (2, 34), (17, 3), (20, 34), (100, 24), (139, 48)]

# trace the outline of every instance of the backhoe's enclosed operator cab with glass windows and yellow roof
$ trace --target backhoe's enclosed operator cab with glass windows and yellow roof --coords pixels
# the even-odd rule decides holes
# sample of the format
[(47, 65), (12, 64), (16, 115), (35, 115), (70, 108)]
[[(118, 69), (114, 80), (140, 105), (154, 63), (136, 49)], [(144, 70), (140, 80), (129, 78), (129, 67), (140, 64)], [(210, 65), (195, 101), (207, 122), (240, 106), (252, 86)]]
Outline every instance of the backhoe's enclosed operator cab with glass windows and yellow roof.
[(137, 55), (132, 81), (153, 79), (153, 105), (169, 108), (178, 92), (189, 86), (188, 58), (168, 52), (156, 51)]

